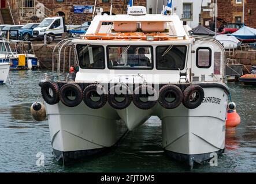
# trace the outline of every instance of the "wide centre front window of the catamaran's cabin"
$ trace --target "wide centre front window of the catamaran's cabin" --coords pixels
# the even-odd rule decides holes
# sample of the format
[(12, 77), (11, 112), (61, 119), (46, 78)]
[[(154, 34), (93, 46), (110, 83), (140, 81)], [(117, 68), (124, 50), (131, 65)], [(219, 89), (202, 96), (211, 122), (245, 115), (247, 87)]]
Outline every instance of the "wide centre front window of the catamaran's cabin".
[(109, 69), (152, 70), (153, 47), (149, 46), (108, 46), (107, 66)]

